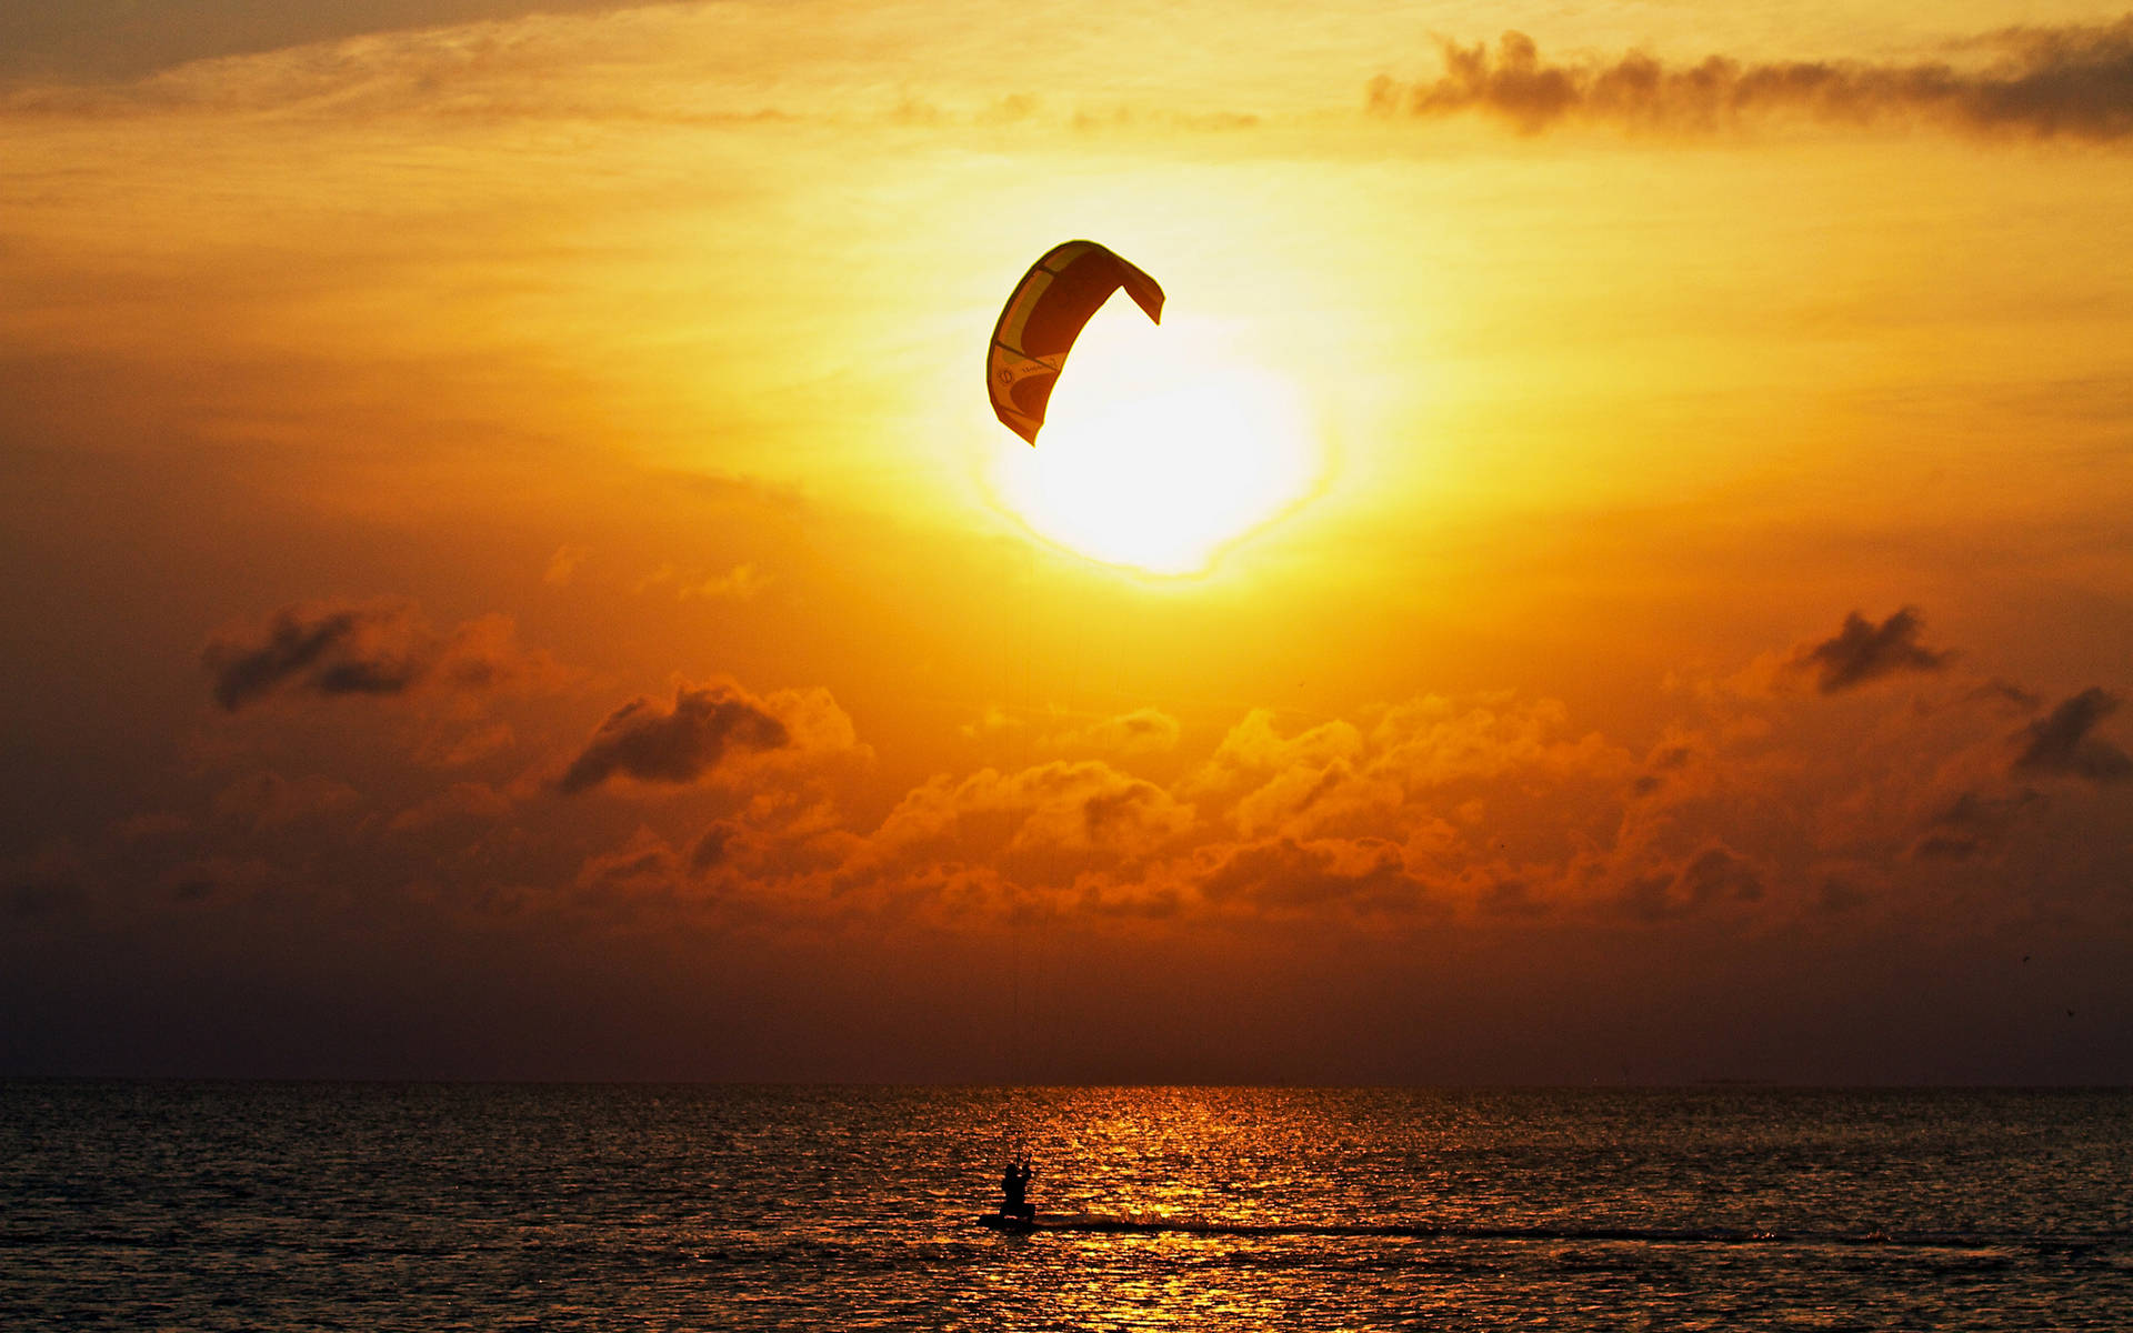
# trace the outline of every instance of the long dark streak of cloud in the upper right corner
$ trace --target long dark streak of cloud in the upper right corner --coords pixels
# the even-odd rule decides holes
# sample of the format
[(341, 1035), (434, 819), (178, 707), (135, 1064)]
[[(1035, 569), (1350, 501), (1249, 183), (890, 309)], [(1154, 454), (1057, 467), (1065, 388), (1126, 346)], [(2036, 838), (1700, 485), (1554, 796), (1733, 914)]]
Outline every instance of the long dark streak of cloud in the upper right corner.
[(2133, 134), (2133, 15), (2103, 26), (2009, 28), (1969, 43), (1984, 68), (1790, 60), (1743, 64), (1711, 55), (1668, 64), (1640, 51), (1613, 62), (1546, 62), (1534, 38), (1489, 45), (1440, 41), (1444, 75), (1372, 81), (1367, 105), (1444, 117), (1480, 111), (1538, 134), (1568, 122), (1713, 130), (1792, 113), (1839, 124), (1926, 119), (1973, 134), (2118, 141)]

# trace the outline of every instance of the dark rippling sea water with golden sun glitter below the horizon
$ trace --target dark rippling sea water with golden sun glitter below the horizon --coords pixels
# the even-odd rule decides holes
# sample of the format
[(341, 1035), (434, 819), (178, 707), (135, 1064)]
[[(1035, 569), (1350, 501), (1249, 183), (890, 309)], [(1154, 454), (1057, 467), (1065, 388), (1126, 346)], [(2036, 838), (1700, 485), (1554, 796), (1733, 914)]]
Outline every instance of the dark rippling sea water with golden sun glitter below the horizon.
[(43, 1327), (2129, 1329), (2133, 1094), (0, 1083)]

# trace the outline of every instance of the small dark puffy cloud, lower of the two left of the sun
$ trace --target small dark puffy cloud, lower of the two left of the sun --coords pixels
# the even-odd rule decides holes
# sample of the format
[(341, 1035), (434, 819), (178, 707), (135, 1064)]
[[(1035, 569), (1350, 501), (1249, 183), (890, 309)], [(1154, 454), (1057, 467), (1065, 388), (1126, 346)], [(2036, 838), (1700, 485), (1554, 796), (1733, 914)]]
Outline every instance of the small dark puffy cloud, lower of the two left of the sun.
[(791, 742), (785, 723), (738, 685), (683, 685), (672, 708), (636, 697), (610, 712), (559, 787), (584, 791), (616, 774), (683, 785), (717, 768), (727, 751), (776, 751)]

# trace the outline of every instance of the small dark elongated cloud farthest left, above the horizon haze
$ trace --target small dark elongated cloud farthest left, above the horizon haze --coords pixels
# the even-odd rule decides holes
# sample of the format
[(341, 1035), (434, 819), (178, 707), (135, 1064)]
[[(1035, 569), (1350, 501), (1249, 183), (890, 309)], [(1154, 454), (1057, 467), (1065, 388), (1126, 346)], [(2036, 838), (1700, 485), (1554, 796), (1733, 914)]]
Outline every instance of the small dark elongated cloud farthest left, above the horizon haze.
[(201, 653), (213, 695), (235, 712), (277, 691), (401, 695), (418, 685), (482, 693), (555, 674), (516, 644), (510, 616), (476, 616), (439, 633), (412, 601), (305, 601), (260, 627), (228, 629)]

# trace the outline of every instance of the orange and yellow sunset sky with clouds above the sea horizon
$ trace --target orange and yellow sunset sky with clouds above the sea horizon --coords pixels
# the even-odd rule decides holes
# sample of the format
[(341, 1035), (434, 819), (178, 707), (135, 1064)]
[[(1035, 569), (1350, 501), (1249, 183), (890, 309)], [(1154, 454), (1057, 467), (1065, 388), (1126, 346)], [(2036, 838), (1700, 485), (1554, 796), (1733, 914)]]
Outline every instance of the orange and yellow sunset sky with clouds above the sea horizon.
[(2133, 1081), (2133, 15), (288, 9), (0, 15), (0, 1073)]

